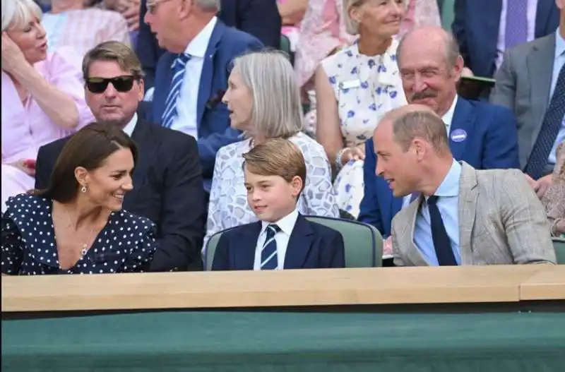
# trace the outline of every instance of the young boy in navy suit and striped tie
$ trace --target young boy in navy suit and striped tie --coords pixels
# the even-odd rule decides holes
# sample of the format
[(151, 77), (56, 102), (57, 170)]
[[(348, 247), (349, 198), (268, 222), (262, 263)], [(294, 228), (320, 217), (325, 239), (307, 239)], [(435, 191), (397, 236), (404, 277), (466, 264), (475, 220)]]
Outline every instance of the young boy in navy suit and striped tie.
[(243, 157), (247, 203), (259, 220), (222, 234), (212, 270), (343, 268), (341, 234), (297, 210), (306, 179), (299, 148), (273, 138)]

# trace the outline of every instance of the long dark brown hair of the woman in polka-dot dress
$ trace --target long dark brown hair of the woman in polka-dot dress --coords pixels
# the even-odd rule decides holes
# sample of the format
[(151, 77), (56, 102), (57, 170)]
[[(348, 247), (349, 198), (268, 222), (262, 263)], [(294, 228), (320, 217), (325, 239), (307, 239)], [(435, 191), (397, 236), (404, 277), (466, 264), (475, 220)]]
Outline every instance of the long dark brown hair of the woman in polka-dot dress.
[(66, 203), (76, 198), (79, 184), (75, 169), (83, 167), (93, 171), (102, 167), (105, 160), (121, 148), (129, 148), (136, 164), (138, 152), (136, 143), (114, 124), (93, 123), (76, 132), (66, 143), (55, 162), (49, 187), (32, 191), (37, 196), (52, 198)]

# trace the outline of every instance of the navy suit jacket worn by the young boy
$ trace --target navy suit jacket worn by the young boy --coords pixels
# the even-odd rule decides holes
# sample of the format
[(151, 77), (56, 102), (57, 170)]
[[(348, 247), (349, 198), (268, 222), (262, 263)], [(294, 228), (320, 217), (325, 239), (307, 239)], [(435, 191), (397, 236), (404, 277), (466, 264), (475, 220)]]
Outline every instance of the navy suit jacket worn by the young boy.
[[(214, 253), (212, 270), (253, 270), (261, 221), (222, 233)], [(285, 269), (344, 268), (343, 236), (329, 227), (298, 215), (288, 240)]]

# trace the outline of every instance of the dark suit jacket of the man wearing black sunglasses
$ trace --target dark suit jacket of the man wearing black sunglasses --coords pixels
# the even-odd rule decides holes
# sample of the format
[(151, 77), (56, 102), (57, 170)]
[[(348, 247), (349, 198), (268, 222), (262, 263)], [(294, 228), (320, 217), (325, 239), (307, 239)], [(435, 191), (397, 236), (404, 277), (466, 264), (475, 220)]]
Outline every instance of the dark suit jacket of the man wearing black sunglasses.
[[(69, 138), (40, 148), (35, 188), (49, 186), (57, 157)], [(201, 270), (206, 203), (196, 140), (139, 116), (131, 138), (138, 145), (139, 157), (124, 209), (157, 225), (159, 248), (150, 270)]]

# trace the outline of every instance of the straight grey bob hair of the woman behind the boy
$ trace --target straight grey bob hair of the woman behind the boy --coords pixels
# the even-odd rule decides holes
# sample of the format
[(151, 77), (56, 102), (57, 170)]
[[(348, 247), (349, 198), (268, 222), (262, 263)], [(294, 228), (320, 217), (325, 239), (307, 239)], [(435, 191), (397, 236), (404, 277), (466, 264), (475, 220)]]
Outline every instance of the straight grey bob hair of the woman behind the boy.
[[(275, 50), (244, 54), (234, 59), (252, 97), (249, 124), (266, 138), (289, 138), (302, 131), (302, 102), (288, 56)], [(249, 136), (249, 133), (246, 133)]]

